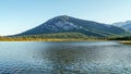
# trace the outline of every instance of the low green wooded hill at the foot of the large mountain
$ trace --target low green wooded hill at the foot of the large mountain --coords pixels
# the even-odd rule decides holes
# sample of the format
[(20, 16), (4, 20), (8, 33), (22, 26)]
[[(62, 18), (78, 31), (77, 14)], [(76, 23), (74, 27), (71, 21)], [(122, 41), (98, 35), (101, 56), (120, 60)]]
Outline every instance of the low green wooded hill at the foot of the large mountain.
[(88, 38), (86, 35), (81, 33), (56, 33), (56, 34), (44, 34), (44, 35), (25, 35), (17, 36), (17, 38), (38, 38), (38, 39), (80, 39), (80, 38)]

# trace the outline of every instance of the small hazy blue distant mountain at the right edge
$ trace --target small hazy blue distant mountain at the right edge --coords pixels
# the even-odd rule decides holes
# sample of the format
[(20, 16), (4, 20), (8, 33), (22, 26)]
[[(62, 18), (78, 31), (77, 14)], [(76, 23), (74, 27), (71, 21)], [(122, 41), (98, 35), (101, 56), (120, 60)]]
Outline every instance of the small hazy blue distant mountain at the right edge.
[(128, 30), (131, 30), (131, 21), (114, 23), (112, 25), (114, 26), (119, 26), (119, 27), (128, 29)]

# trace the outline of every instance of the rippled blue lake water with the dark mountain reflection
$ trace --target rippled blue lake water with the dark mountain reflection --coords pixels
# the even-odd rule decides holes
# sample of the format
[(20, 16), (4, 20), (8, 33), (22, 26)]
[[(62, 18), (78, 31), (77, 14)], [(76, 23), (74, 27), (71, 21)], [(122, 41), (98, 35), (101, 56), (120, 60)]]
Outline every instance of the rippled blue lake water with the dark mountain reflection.
[(1, 41), (0, 74), (131, 74), (131, 45)]

